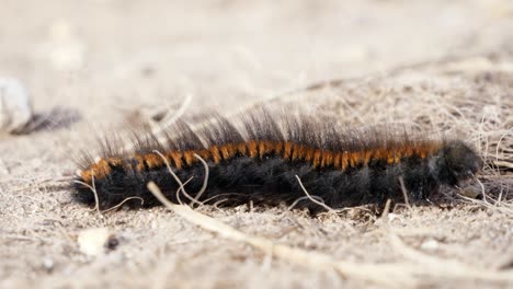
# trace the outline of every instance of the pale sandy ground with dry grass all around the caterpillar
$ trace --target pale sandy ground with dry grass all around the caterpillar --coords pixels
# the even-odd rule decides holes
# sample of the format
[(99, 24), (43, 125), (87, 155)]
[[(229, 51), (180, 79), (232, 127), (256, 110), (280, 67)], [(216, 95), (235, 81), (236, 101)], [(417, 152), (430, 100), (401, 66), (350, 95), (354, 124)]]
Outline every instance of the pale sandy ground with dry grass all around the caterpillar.
[[(1, 0), (0, 76), (25, 81), (36, 111), (52, 113), (33, 134), (0, 138), (0, 287), (381, 288), (386, 274), (388, 286), (513, 288), (511, 2), (179, 2)], [(448, 192), (443, 206), (384, 218), (198, 209), (311, 259), (346, 262), (341, 270), (227, 240), (163, 207), (99, 215), (71, 203), (59, 180), (91, 135), (185, 95), (187, 118), (263, 99), (342, 124), (458, 135), (487, 161), (488, 198)], [(78, 235), (105, 227), (119, 244), (84, 255)]]

